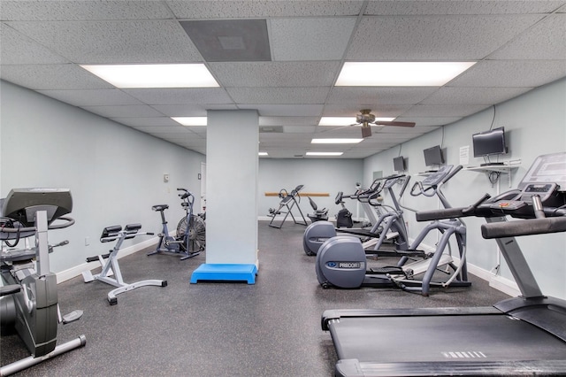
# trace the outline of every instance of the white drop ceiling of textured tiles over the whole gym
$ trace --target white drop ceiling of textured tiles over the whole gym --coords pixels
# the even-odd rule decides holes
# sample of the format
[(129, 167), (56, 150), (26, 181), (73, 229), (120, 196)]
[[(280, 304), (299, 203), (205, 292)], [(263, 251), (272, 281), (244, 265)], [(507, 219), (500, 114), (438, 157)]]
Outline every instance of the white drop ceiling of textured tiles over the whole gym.
[[(365, 158), (566, 76), (566, 1), (2, 0), (0, 21), (2, 80), (203, 154), (206, 127), (170, 117), (256, 109), (268, 158)], [(478, 63), (442, 87), (334, 87), (351, 61)], [(166, 63), (220, 87), (119, 89), (80, 67)], [(317, 124), (364, 108), (417, 126), (310, 144), (359, 137)]]

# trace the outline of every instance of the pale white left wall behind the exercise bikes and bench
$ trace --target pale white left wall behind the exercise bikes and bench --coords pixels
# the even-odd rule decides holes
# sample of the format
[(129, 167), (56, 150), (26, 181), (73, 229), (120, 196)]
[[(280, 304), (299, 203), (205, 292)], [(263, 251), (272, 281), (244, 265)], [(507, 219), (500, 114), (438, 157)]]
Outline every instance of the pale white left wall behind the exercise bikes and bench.
[[(70, 242), (51, 254), (52, 271), (107, 252), (108, 244), (99, 241), (103, 227), (139, 222), (157, 234), (161, 219), (151, 211), (154, 204), (170, 205), (167, 219), (176, 227), (184, 213), (176, 188), (192, 190), (198, 200), (202, 154), (9, 82), (0, 81), (0, 90), (0, 197), (32, 187), (70, 188), (73, 195), (75, 225), (50, 232), (50, 242)], [(136, 237), (124, 246), (147, 240)]]

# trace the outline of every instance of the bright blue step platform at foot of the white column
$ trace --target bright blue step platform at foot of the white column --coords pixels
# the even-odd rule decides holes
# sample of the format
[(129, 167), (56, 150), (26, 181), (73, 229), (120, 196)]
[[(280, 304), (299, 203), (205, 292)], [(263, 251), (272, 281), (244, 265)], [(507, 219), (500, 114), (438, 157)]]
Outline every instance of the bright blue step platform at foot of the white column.
[(205, 263), (191, 275), (191, 284), (198, 281), (247, 281), (256, 284), (256, 265), (224, 265)]

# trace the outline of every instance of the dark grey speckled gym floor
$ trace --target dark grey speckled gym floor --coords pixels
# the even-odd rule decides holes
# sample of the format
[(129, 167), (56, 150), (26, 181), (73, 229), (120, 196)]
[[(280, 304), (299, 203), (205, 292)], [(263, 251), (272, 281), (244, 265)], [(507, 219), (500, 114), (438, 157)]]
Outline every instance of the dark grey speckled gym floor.
[[(400, 289), (322, 289), (315, 258), (302, 251), (305, 227), (276, 229), (263, 221), (258, 227), (255, 285), (190, 284), (204, 254), (180, 261), (145, 251), (120, 259), (124, 280), (164, 279), (167, 287), (134, 289), (110, 305), (110, 285), (81, 277), (59, 284), (61, 311), (84, 315), (60, 326), (57, 341), (85, 335), (87, 344), (18, 375), (331, 376), (336, 354), (320, 327), (327, 309), (484, 306), (508, 298), (474, 276), (470, 288), (432, 289), (428, 297)], [(107, 249), (108, 243), (99, 245), (100, 253)], [(0, 345), (2, 365), (27, 357), (18, 335), (6, 329)]]

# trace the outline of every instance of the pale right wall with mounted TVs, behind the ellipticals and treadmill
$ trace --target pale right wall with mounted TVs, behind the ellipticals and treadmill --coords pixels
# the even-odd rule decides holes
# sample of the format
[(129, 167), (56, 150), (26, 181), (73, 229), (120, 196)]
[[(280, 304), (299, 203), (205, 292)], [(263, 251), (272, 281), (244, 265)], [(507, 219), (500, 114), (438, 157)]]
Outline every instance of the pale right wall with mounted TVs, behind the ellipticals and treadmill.
[[(466, 119), (437, 129), (417, 139), (405, 142), (364, 160), (363, 177), (371, 181), (371, 173), (383, 170), (393, 173), (393, 158), (401, 154), (408, 158), (408, 170), (411, 180), (422, 179), (415, 176), (425, 170), (423, 150), (440, 144), (445, 149), (447, 164), (459, 165), (460, 147), (470, 146), (470, 165), (479, 165), (483, 159), (473, 158), (471, 135), (493, 127), (505, 127), (509, 154), (501, 161), (521, 159), (522, 164), (511, 173), (510, 186), (516, 188), (539, 155), (566, 150), (566, 79), (556, 81), (543, 88), (519, 96), (503, 104), (498, 104), (493, 120), (493, 107)], [(417, 125), (418, 127), (418, 125)], [(401, 151), (400, 151), (401, 150)], [(509, 175), (502, 174), (498, 184), (492, 186), (486, 173), (462, 171), (455, 175), (444, 188), (448, 201), (453, 206), (465, 206), (474, 203), (484, 193), (495, 195), (509, 190)], [(417, 210), (437, 208), (438, 203), (423, 196), (405, 196), (404, 205)], [(413, 213), (408, 212), (409, 236), (416, 237), (424, 226), (415, 221)], [(468, 260), (479, 269), (491, 271), (497, 265), (497, 247), (493, 240), (484, 240), (479, 227), (482, 219), (466, 218), (468, 225)], [(430, 239), (427, 239), (432, 244)], [(539, 285), (550, 296), (566, 298), (566, 235), (536, 235), (520, 237), (518, 242), (532, 266)], [(506, 266), (501, 275), (512, 279)]]

